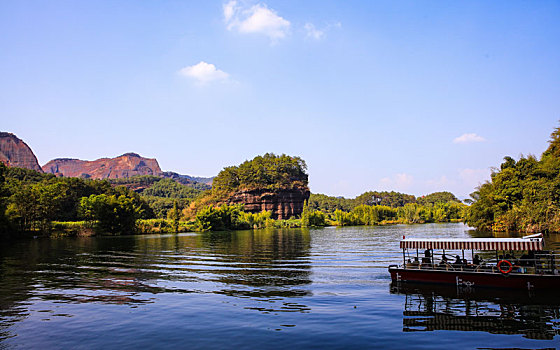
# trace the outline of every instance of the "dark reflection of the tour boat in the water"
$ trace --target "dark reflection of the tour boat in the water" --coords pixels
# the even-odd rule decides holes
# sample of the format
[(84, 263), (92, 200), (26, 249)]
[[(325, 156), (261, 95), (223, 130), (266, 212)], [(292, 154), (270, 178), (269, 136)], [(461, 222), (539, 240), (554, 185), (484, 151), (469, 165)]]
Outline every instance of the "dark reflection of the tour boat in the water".
[(406, 296), (404, 332), (479, 331), (530, 339), (560, 335), (560, 297), (552, 293), (396, 282), (391, 293)]

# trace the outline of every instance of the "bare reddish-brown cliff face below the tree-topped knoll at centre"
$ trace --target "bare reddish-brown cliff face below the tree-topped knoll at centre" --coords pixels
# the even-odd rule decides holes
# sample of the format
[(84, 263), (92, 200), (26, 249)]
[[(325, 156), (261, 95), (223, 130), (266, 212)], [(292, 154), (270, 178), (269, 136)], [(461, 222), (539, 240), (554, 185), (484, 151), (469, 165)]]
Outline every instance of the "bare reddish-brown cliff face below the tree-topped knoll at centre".
[(301, 215), (309, 194), (307, 188), (238, 191), (229, 198), (228, 204), (243, 204), (245, 211), (251, 213), (271, 211), (273, 219), (286, 220)]

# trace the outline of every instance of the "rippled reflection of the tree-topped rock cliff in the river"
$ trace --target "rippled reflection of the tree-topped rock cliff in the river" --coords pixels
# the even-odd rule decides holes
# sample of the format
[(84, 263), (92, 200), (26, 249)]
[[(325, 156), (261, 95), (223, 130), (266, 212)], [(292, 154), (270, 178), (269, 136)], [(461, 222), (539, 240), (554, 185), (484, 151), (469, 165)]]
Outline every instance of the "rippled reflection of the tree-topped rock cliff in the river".
[(227, 286), (221, 293), (252, 298), (309, 294), (300, 288), (311, 283), (309, 231), (210, 233), (203, 241), (230, 267), (220, 272), (218, 280)]

